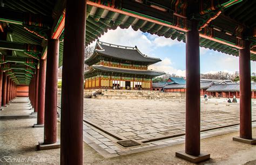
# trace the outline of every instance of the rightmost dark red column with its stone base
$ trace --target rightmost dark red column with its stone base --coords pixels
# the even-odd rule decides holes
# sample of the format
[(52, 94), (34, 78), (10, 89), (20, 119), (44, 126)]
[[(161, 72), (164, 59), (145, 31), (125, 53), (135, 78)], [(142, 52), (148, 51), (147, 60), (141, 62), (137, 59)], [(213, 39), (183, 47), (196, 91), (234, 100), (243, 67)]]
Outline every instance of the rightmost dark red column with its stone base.
[(250, 44), (250, 41), (245, 40), (245, 48), (239, 50), (240, 137), (233, 138), (233, 140), (256, 144), (256, 139), (252, 139)]

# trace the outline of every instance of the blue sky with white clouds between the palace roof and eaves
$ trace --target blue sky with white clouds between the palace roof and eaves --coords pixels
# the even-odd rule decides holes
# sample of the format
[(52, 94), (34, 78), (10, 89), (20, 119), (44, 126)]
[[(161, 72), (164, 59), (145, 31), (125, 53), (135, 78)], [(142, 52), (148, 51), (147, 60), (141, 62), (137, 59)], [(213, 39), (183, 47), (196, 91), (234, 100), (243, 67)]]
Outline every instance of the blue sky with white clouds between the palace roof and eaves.
[[(99, 40), (117, 45), (137, 46), (143, 54), (154, 57), (158, 57), (158, 52), (155, 51), (157, 47), (171, 47), (173, 45), (184, 46), (182, 41), (179, 42), (170, 38), (158, 37), (157, 35), (143, 33), (139, 30), (134, 31), (131, 27), (126, 30), (119, 27), (116, 30), (109, 30), (107, 33), (102, 35)], [(95, 44), (96, 42), (93, 42), (91, 46), (94, 46)], [(202, 65), (201, 69), (204, 70), (202, 73), (213, 73), (224, 70), (229, 73), (234, 73), (234, 71), (239, 70), (239, 59), (235, 56), (201, 47), (200, 54), (203, 55), (201, 56), (201, 59), (205, 58), (206, 60), (209, 60), (204, 62), (205, 64)], [(171, 61), (170, 58), (165, 58), (163, 61), (150, 66), (150, 68), (165, 71), (170, 74), (174, 73), (180, 76), (185, 76), (185, 70), (173, 68), (173, 63), (178, 62)], [(256, 62), (251, 62), (251, 72), (256, 72)]]

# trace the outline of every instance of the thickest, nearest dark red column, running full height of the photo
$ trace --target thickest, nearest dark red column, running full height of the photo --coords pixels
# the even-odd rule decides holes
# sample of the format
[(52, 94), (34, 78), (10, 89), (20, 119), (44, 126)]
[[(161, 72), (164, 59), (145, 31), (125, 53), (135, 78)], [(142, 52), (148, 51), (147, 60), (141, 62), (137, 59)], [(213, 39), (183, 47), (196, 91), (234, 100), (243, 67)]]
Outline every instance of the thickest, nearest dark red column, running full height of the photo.
[(83, 164), (83, 82), (86, 1), (66, 2), (60, 163)]

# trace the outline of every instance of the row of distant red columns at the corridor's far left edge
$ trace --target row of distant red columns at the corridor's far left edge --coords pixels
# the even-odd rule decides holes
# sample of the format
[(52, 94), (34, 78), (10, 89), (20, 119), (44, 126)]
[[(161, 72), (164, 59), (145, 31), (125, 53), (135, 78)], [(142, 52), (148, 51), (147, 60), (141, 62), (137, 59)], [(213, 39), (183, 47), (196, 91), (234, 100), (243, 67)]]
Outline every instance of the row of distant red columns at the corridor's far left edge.
[(17, 85), (0, 69), (0, 104), (6, 106), (16, 97)]

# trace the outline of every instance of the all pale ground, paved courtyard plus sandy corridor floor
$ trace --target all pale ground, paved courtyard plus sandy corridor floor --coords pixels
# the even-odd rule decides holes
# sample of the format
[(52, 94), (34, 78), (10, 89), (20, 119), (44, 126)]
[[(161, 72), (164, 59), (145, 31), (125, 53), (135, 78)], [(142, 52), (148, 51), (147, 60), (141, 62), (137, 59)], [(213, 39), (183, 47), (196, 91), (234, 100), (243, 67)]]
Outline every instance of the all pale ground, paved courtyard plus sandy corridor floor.
[[(16, 101), (6, 107), (1, 115), (32, 112), (31, 106), (25, 103), (28, 99), (16, 98)], [(60, 99), (58, 101), (60, 103)], [(255, 135), (256, 108), (255, 101), (252, 102)], [(84, 99), (84, 107), (84, 164), (188, 163), (174, 156), (184, 147), (184, 101)], [(43, 140), (44, 128), (32, 128), (35, 123), (36, 119), (33, 118), (0, 120), (0, 154), (12, 160), (30, 159), (31, 162), (33, 159), (34, 163), (58, 163), (59, 149), (37, 151), (36, 145)], [(227, 106), (221, 99), (201, 103), (201, 148), (203, 152), (213, 155), (205, 163), (255, 163), (255, 146), (232, 141), (232, 137), (239, 134), (238, 123), (239, 104)], [(57, 130), (59, 139), (59, 122)], [(123, 147), (117, 143), (127, 139), (140, 145)], [(1, 158), (3, 163), (6, 163), (5, 158)]]

